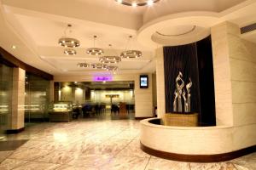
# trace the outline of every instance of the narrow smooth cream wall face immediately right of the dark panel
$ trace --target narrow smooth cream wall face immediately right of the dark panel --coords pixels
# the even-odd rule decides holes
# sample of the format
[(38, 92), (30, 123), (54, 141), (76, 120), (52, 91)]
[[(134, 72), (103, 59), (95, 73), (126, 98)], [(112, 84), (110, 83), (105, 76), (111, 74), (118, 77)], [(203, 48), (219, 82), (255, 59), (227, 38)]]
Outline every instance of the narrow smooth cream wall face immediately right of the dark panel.
[(233, 125), (230, 56), (226, 23), (212, 27), (212, 55), (217, 125)]

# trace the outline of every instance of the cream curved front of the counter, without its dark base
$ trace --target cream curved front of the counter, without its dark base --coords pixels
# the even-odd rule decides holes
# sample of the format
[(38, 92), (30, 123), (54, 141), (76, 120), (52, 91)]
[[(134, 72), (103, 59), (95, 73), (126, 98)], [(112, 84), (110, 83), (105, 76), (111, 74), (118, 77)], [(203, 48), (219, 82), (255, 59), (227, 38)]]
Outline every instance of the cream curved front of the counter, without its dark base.
[(155, 127), (142, 122), (140, 137), (150, 148), (177, 154), (214, 155), (233, 151), (233, 127)]

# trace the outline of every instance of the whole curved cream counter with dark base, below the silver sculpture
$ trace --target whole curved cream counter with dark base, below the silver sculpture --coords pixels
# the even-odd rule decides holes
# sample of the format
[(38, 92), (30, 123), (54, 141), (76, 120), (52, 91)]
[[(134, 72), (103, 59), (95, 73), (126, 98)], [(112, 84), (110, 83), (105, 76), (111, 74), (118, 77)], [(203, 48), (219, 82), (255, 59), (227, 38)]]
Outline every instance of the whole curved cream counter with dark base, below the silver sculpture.
[[(237, 148), (234, 127), (171, 127), (160, 118), (141, 121), (141, 148), (150, 155), (175, 161), (228, 161), (255, 150)], [(242, 140), (242, 139), (241, 139)]]

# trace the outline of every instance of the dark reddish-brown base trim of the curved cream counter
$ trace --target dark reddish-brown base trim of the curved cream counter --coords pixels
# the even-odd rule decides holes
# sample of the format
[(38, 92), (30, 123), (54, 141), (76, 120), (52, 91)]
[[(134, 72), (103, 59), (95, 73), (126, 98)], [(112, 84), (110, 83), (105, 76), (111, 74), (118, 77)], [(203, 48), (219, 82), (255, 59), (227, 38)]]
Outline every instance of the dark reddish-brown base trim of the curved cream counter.
[(247, 147), (241, 150), (232, 151), (224, 154), (216, 155), (183, 155), (165, 152), (161, 150), (154, 150), (145, 146), (141, 143), (141, 149), (152, 156), (157, 156), (160, 158), (172, 160), (172, 161), (188, 161), (188, 162), (218, 162), (218, 161), (230, 161), (240, 156), (246, 156), (256, 151), (256, 145)]

